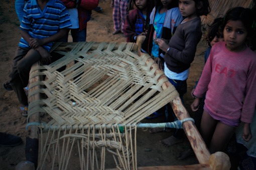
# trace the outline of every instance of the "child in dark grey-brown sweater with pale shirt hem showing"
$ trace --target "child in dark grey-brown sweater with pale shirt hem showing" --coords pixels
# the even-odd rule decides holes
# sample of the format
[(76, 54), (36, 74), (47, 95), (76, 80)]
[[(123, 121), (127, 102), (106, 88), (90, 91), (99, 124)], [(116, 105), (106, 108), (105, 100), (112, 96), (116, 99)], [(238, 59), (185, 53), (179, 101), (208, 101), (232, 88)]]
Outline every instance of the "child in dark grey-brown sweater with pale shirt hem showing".
[[(179, 8), (184, 17), (182, 22), (167, 44), (160, 39), (157, 43), (165, 55), (164, 72), (169, 81), (175, 86), (183, 100), (183, 95), (187, 92), (187, 78), (189, 75), (190, 64), (193, 62), (196, 46), (202, 37), (201, 15), (210, 12), (208, 0), (179, 0)], [(175, 116), (173, 110), (169, 109)], [(165, 146), (183, 141), (183, 129), (174, 130), (174, 134), (162, 140)]]

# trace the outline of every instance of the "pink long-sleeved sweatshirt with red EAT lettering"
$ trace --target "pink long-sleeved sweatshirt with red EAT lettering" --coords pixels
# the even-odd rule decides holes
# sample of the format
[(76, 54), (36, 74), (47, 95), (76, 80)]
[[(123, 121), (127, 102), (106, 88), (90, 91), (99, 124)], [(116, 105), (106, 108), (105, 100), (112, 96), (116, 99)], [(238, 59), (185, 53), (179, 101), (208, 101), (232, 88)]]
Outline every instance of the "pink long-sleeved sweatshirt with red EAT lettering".
[(225, 42), (213, 45), (194, 95), (205, 92), (213, 114), (250, 123), (256, 103), (256, 53), (249, 47), (231, 52)]

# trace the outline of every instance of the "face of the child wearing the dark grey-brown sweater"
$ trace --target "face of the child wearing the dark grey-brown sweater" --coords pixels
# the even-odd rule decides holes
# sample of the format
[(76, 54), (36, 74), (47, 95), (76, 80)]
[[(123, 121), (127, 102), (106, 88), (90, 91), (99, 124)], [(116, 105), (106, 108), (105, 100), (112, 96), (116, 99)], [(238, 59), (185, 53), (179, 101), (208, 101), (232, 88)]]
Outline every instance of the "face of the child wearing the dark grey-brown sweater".
[(197, 10), (194, 0), (179, 0), (179, 8), (184, 17), (195, 14)]

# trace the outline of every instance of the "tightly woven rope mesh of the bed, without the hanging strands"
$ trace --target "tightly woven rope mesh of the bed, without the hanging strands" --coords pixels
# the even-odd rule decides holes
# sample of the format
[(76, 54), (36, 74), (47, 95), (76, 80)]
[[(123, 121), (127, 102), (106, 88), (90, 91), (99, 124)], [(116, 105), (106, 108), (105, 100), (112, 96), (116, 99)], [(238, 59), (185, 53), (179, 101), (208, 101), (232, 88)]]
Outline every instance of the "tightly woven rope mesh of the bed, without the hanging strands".
[(30, 77), (44, 80), (30, 81), (30, 88), (40, 85), (30, 96), (45, 96), (30, 102), (29, 116), (39, 111), (51, 115), (46, 129), (136, 124), (178, 95), (173, 86), (162, 89), (168, 79), (158, 79), (164, 72), (155, 75), (153, 60), (132, 51), (134, 43), (102, 42), (92, 49), (95, 43), (76, 43), (70, 51), (57, 51), (64, 55), (60, 60), (32, 68)]

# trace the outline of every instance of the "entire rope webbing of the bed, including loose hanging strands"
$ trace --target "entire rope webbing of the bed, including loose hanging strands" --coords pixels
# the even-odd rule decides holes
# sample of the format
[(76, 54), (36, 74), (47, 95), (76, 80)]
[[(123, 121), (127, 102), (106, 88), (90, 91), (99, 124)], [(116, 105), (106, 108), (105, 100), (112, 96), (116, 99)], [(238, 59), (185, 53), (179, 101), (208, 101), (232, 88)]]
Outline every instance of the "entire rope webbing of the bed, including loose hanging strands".
[(106, 151), (117, 168), (136, 169), (137, 125), (177, 97), (175, 87), (162, 88), (169, 82), (164, 72), (148, 54), (138, 56), (134, 43), (61, 45), (53, 48), (61, 59), (30, 72), (28, 120), (38, 112), (51, 117), (39, 122), (40, 169), (49, 168), (46, 162), (55, 168), (56, 161), (59, 169), (69, 169), (73, 150), (81, 169), (104, 169)]

